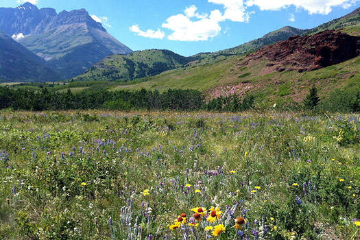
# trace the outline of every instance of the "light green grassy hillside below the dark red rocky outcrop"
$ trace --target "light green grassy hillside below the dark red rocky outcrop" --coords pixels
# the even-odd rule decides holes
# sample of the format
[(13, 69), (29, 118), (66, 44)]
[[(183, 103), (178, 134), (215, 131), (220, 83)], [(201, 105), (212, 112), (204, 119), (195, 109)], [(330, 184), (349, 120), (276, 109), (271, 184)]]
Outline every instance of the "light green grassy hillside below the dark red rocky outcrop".
[[(344, 29), (344, 32), (348, 29)], [(257, 104), (278, 106), (302, 101), (312, 84), (319, 88), (323, 99), (332, 91), (354, 94), (360, 90), (360, 57), (324, 69), (298, 73), (298, 71), (268, 72), (267, 60), (260, 59), (243, 66), (244, 57), (232, 56), (213, 64), (174, 69), (149, 80), (138, 80), (132, 84), (121, 84), (112, 90), (191, 88), (206, 93), (208, 98), (236, 93), (243, 96), (253, 94)], [(330, 94), (329, 94), (330, 93)], [(339, 95), (337, 95), (339, 97)]]

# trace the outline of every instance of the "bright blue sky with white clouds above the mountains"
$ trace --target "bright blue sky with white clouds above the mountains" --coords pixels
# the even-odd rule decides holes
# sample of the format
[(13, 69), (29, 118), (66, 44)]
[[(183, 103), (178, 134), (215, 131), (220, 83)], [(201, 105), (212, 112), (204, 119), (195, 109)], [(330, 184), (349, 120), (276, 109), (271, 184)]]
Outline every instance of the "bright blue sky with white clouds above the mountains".
[[(11, 7), (24, 0), (0, 0)], [(183, 56), (218, 51), (287, 25), (308, 29), (359, 8), (360, 0), (29, 0), (56, 12), (85, 8), (132, 50)]]

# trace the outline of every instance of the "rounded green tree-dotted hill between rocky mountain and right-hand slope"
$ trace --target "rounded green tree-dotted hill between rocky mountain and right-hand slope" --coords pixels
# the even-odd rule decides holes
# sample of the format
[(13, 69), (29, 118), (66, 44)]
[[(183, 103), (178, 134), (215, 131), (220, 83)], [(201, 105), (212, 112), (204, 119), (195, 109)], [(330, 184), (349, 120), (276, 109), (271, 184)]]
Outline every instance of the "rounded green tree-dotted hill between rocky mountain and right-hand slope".
[(94, 64), (84, 74), (76, 77), (75, 80), (123, 80), (126, 82), (184, 67), (194, 60), (197, 58), (180, 56), (169, 50), (134, 51), (128, 55), (108, 56)]

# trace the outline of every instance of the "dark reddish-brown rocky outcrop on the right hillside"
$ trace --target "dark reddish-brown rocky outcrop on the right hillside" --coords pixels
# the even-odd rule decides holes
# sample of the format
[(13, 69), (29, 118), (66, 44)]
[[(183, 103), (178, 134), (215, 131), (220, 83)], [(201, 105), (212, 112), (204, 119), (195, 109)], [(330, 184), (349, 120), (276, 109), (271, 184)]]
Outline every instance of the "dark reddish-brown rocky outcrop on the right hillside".
[(291, 36), (248, 54), (242, 64), (266, 58), (270, 71), (313, 71), (360, 55), (360, 37), (326, 30), (314, 35)]

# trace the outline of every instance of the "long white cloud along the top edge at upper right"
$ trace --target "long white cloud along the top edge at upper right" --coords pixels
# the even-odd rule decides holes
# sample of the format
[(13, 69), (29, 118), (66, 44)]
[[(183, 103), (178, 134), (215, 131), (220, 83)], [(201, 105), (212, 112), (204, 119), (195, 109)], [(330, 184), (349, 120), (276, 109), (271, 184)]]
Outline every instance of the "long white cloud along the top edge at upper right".
[[(209, 0), (210, 1), (210, 0)], [(257, 5), (260, 10), (280, 10), (290, 5), (302, 8), (309, 14), (328, 14), (333, 7), (349, 8), (359, 0), (248, 0), (246, 6)]]

